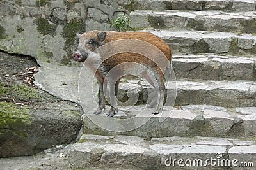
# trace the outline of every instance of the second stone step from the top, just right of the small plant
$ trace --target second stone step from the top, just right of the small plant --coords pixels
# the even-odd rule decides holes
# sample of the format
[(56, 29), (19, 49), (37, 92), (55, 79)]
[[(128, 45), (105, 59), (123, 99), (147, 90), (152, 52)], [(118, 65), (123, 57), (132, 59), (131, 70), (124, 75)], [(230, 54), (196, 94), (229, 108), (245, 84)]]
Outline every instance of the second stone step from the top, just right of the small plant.
[(133, 29), (153, 27), (156, 29), (180, 27), (186, 29), (220, 32), (256, 32), (256, 11), (132, 11), (130, 14)]

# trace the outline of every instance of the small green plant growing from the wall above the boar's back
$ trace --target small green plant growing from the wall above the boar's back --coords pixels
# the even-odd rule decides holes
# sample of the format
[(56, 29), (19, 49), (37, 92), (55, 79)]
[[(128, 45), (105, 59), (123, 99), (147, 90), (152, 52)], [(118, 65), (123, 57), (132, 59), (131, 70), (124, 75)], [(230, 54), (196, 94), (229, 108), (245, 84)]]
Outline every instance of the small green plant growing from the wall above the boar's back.
[(110, 24), (116, 31), (127, 31), (130, 20), (124, 14), (120, 14), (117, 18), (113, 19)]

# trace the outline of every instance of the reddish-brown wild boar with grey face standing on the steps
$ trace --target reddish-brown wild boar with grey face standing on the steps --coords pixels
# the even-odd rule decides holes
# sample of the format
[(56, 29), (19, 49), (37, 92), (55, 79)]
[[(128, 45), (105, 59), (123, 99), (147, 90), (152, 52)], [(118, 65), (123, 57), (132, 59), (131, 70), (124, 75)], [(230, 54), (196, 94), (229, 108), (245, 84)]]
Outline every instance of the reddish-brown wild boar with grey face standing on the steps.
[[(93, 63), (100, 63), (99, 67), (95, 67), (93, 63), (87, 64), (87, 66), (90, 67), (90, 69), (95, 71), (95, 76), (99, 81), (99, 107), (94, 112), (95, 114), (100, 114), (102, 113), (102, 109), (105, 109), (106, 86), (107, 81), (109, 81), (111, 108), (109, 110), (108, 116), (113, 117), (113, 115), (115, 115), (115, 111), (118, 111), (116, 104), (116, 96), (118, 93), (118, 85), (120, 82), (120, 78), (125, 72), (127, 74), (129, 73), (129, 71), (136, 71), (137, 73), (140, 72), (143, 78), (145, 78), (148, 81), (148, 83), (150, 83), (150, 85), (154, 87), (155, 96), (158, 96), (158, 103), (156, 106), (156, 110), (154, 110), (152, 113), (157, 114), (163, 109), (165, 92), (163, 72), (168, 67), (168, 64), (171, 60), (172, 50), (170, 49), (170, 46), (168, 46), (162, 39), (158, 38), (150, 32), (104, 32), (96, 30), (85, 32), (83, 34), (77, 34), (77, 38), (79, 39), (79, 45), (77, 51), (72, 55), (72, 59), (78, 62), (84, 62), (88, 58), (90, 58), (90, 56), (92, 56), (91, 58)], [(155, 46), (155, 48), (159, 50), (163, 55), (159, 56), (158, 54), (156, 54), (156, 56), (153, 56), (152, 59), (150, 59), (147, 56), (142, 55), (140, 53), (125, 52), (125, 48), (127, 48), (127, 45), (129, 45), (129, 43), (126, 44), (125, 41), (120, 41), (125, 39), (143, 41), (149, 45)], [(109, 43), (115, 41), (118, 41), (118, 44), (109, 45), (107, 48), (104, 48), (104, 50), (106, 50), (106, 53), (115, 51), (115, 48), (120, 48), (120, 46), (122, 46), (122, 50), (124, 52), (115, 53), (111, 57), (107, 58), (106, 56), (103, 56), (104, 52), (97, 52), (97, 49), (99, 49), (100, 47), (104, 45), (106, 46)], [(143, 47), (136, 46), (136, 48), (141, 48), (142, 50)], [(162, 62), (160, 62), (162, 63), (163, 66), (161, 66), (162, 68), (159, 68), (159, 64), (156, 64), (154, 62), (154, 59), (163, 58), (168, 63), (166, 63), (163, 60)], [(138, 69), (138, 67), (134, 64), (125, 64), (129, 62), (141, 64), (142, 66), (144, 66), (145, 69), (143, 69), (143, 67), (141, 67), (142, 69)], [(110, 73), (111, 69), (113, 68), (115, 68), (115, 73), (111, 73), (111, 75), (108, 76), (108, 73)], [(156, 83), (154, 84), (152, 76), (150, 75), (154, 75), (154, 78), (156, 79), (157, 82), (157, 87), (159, 87), (158, 89), (156, 88)], [(147, 108), (152, 108), (155, 104), (156, 100), (152, 100), (152, 102), (150, 102), (150, 104), (147, 105)]]

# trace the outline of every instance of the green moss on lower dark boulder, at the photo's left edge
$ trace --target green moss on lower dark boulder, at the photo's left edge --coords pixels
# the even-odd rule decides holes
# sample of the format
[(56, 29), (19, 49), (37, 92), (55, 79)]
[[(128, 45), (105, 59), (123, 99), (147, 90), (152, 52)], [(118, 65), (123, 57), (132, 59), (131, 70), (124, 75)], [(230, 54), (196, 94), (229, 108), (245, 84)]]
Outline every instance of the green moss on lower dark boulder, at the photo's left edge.
[(20, 108), (13, 103), (0, 102), (0, 134), (25, 135), (22, 127), (31, 122), (28, 108)]

